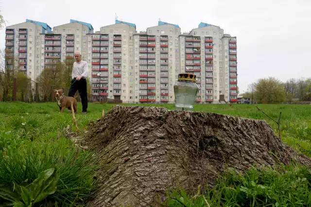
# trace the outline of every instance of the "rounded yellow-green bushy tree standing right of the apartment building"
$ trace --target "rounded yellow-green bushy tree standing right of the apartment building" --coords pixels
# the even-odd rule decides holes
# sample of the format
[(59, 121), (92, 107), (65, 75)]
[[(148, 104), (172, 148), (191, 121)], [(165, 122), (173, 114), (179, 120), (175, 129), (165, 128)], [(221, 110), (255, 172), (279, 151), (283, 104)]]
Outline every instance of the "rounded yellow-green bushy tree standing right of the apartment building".
[(274, 77), (263, 78), (256, 84), (256, 98), (261, 104), (278, 104), (286, 99), (284, 84)]

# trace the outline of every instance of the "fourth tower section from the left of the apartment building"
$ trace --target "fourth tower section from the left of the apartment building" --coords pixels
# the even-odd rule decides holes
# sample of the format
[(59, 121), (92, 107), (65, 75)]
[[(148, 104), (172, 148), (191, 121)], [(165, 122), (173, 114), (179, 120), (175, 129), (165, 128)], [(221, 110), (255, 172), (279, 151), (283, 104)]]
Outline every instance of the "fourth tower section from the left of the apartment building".
[[(180, 27), (159, 21), (135, 34), (135, 103), (173, 103)], [(138, 77), (139, 74), (139, 77)]]

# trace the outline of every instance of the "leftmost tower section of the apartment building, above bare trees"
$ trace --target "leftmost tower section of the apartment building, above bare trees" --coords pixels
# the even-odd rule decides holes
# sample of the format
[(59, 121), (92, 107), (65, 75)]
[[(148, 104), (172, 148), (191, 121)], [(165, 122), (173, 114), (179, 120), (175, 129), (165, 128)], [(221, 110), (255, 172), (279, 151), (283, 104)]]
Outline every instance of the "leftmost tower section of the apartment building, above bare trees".
[(47, 34), (52, 28), (44, 22), (26, 19), (25, 22), (6, 27), (5, 57), (7, 69), (23, 71), (35, 80), (40, 74), (40, 34)]

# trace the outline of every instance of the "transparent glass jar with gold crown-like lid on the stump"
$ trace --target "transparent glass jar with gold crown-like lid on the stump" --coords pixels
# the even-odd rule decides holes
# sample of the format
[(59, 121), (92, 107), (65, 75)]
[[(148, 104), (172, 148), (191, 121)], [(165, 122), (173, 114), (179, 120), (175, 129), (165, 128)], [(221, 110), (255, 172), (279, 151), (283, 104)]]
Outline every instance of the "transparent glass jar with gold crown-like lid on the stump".
[(196, 85), (196, 75), (189, 73), (178, 74), (174, 85), (175, 109), (192, 111), (199, 87)]

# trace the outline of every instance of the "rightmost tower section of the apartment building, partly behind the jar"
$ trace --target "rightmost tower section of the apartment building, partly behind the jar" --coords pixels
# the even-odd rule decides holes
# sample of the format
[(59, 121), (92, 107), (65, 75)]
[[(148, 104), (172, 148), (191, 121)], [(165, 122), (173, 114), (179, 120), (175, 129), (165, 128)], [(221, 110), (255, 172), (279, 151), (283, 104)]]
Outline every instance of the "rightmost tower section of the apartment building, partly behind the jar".
[[(237, 101), (236, 37), (224, 34), (218, 26), (201, 22), (189, 34), (179, 36), (179, 47), (181, 71), (197, 76), (197, 102), (217, 104)], [(233, 48), (234, 54), (230, 56)], [(234, 74), (231, 74), (231, 69), (234, 69)]]

